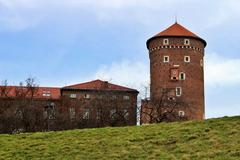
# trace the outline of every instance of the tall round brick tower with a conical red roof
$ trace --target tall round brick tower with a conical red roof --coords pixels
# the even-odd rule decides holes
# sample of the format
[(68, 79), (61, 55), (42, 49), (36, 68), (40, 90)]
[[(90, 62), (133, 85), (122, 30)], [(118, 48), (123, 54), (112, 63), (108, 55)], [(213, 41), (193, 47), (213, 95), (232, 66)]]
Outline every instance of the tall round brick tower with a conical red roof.
[(179, 116), (204, 119), (204, 48), (205, 40), (178, 23), (147, 41), (150, 57), (150, 97), (161, 98), (164, 88), (172, 98), (181, 97), (188, 108)]

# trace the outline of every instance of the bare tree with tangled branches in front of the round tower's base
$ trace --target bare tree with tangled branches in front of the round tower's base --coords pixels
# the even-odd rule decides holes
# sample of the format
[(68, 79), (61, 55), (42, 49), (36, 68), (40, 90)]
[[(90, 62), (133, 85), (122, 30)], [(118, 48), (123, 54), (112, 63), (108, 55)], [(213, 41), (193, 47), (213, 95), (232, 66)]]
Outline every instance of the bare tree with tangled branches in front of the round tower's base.
[(163, 88), (159, 98), (143, 100), (141, 120), (148, 123), (172, 122), (189, 119), (185, 111), (191, 111), (182, 97), (173, 94), (174, 89)]

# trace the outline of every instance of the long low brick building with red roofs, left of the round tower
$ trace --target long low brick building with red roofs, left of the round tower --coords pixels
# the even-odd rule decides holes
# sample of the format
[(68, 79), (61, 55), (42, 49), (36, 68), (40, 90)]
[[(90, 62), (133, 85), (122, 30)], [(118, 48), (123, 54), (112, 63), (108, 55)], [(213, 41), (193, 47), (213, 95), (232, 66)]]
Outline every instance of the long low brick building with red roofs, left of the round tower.
[(62, 88), (0, 86), (0, 132), (136, 125), (137, 95), (101, 80)]

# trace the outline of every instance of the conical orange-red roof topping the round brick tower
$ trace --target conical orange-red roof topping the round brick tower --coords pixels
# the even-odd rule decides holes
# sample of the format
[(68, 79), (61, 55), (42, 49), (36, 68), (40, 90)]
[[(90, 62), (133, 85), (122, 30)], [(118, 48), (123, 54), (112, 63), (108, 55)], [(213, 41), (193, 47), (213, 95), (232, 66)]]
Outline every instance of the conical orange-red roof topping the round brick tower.
[(152, 38), (150, 38), (147, 41), (147, 46), (150, 42), (150, 40), (155, 39), (157, 37), (191, 37), (191, 38), (196, 38), (199, 39), (204, 43), (204, 46), (207, 45), (206, 41), (194, 34), (193, 32), (189, 31), (182, 25), (178, 24), (177, 22), (168, 27), (167, 29), (163, 30), (162, 32), (156, 34)]

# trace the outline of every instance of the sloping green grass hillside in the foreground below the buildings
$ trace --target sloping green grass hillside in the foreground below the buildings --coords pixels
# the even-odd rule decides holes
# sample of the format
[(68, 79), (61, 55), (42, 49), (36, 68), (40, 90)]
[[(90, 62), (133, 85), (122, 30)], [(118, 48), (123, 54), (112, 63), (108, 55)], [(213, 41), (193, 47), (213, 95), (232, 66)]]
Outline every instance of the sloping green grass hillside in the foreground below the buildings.
[(240, 117), (0, 135), (0, 159), (240, 159)]

